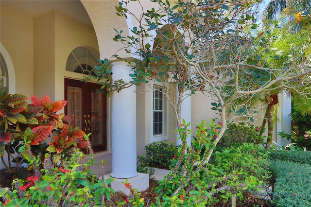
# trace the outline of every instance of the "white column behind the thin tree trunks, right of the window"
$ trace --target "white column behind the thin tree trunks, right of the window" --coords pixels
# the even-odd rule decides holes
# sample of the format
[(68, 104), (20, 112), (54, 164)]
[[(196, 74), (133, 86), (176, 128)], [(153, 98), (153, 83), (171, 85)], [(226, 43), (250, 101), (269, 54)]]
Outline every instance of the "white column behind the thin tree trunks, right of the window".
[[(183, 101), (181, 103), (181, 119), (184, 119), (187, 122), (191, 123), (191, 91), (185, 91), (184, 92), (184, 98)], [(186, 98), (185, 98), (186, 97)], [(178, 98), (178, 91), (176, 94), (176, 98)], [(189, 129), (191, 129), (191, 125), (188, 127)], [(176, 133), (176, 145), (181, 144), (181, 139), (179, 138), (179, 134)], [(190, 146), (191, 145), (191, 135), (189, 135), (187, 137), (187, 145)]]

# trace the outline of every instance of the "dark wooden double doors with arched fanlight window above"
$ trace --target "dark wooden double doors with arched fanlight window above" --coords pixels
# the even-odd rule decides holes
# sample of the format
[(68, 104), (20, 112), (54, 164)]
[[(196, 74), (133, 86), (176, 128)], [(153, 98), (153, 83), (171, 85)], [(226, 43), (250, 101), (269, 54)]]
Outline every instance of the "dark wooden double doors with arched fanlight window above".
[[(82, 74), (93, 73), (99, 65), (99, 55), (95, 50), (80, 46), (70, 52), (66, 70)], [(75, 126), (86, 134), (91, 133), (90, 140), (94, 152), (107, 150), (106, 133), (106, 95), (101, 93), (97, 83), (65, 78), (65, 113), (70, 115)]]

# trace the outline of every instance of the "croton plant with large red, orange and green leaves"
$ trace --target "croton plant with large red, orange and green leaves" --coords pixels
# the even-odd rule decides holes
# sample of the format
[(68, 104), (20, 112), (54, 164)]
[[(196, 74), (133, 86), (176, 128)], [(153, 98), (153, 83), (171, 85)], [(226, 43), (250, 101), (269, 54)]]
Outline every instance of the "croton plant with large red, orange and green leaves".
[[(10, 173), (18, 172), (29, 153), (40, 156), (42, 161), (46, 153), (52, 154), (57, 165), (76, 149), (85, 154), (91, 152), (88, 136), (74, 126), (69, 116), (56, 114), (67, 101), (52, 102), (48, 96), (42, 100), (32, 96), (33, 104), (26, 100), (24, 95), (9, 94), (7, 87), (0, 89), (0, 156)], [(25, 145), (31, 152), (25, 150)], [(5, 151), (7, 158), (3, 156)], [(16, 167), (12, 167), (12, 162)]]

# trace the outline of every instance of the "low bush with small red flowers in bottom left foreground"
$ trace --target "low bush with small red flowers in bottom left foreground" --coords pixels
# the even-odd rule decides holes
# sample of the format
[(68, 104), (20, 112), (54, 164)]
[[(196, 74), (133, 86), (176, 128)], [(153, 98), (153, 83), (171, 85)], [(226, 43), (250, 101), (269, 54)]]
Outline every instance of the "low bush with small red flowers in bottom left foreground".
[[(93, 159), (84, 162), (84, 154), (75, 152), (65, 167), (52, 165), (49, 154), (40, 174), (27, 180), (14, 180), (13, 189), (0, 189), (0, 196), (8, 207), (15, 206), (81, 206), (109, 203), (114, 192), (108, 187), (112, 178), (99, 180), (90, 171)], [(38, 161), (38, 160), (36, 160)]]

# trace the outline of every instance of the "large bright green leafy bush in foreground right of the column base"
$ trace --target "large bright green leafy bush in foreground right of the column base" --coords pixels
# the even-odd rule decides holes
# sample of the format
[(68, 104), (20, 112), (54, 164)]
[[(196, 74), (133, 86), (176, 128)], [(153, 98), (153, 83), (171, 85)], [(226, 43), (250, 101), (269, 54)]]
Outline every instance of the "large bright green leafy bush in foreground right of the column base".
[[(180, 155), (180, 150), (177, 155)], [(257, 145), (243, 143), (240, 147), (231, 147), (222, 152), (215, 153), (215, 164), (199, 165), (192, 169), (190, 163), (191, 147), (189, 153), (184, 155), (185, 162), (179, 173), (169, 174), (169, 182), (159, 182), (158, 193), (163, 193), (163, 200), (167, 202), (179, 202), (180, 196), (185, 204), (208, 204), (215, 205), (222, 202), (228, 204), (232, 193), (236, 193), (238, 202), (250, 202), (256, 193), (260, 192), (260, 187), (265, 186), (268, 179), (267, 158), (268, 152)], [(173, 159), (173, 163), (177, 163)], [(183, 172), (191, 173), (191, 179), (185, 179)], [(185, 186), (189, 191), (182, 191), (176, 194), (175, 191)], [(187, 195), (188, 194), (188, 195)], [(173, 196), (172, 196), (173, 195)], [(249, 200), (248, 200), (249, 199)], [(259, 199), (257, 200), (260, 204)], [(202, 202), (202, 203), (201, 203)], [(200, 206), (200, 205), (199, 205)]]

